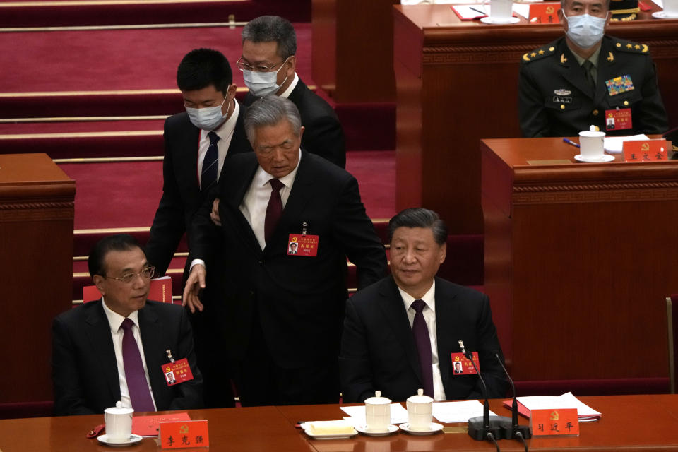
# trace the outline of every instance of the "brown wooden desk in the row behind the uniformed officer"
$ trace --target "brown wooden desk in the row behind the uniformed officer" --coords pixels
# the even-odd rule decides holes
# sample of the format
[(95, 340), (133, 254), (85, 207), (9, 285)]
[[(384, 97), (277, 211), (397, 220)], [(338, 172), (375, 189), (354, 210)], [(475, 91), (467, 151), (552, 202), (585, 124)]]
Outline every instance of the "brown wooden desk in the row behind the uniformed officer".
[[(480, 233), (480, 139), (521, 136), (521, 57), (561, 36), (561, 25), (461, 21), (449, 5), (393, 13), (397, 208), (432, 208), (451, 233)], [(678, 20), (613, 23), (608, 32), (650, 46), (670, 124), (678, 124)]]

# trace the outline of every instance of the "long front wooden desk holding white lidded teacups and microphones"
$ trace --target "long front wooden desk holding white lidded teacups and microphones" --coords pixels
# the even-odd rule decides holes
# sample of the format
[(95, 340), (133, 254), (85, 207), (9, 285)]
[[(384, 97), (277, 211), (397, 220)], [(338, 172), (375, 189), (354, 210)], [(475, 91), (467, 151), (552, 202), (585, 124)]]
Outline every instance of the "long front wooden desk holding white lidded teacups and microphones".
[[(602, 420), (581, 424), (578, 438), (530, 439), (530, 450), (573, 451), (675, 451), (674, 434), (678, 422), (678, 395), (583, 397)], [(510, 415), (501, 400), (492, 400), (491, 409)], [(294, 425), (298, 420), (335, 420), (344, 413), (339, 405), (290, 407), (223, 408), (191, 410), (191, 419), (209, 420), (210, 451), (309, 451), (309, 452), (415, 452), (491, 451), (492, 445), (473, 441), (465, 432), (432, 436), (410, 436), (398, 432), (374, 438), (358, 435), (353, 439), (313, 440)], [(85, 433), (103, 422), (102, 415), (42, 417), (0, 420), (0, 449), (3, 452), (107, 452), (112, 449)], [(521, 424), (527, 420), (521, 417)], [(464, 424), (458, 424), (464, 425)], [(502, 440), (502, 451), (522, 451), (518, 441)], [(155, 439), (145, 438), (136, 446), (120, 451), (159, 451)], [(184, 449), (185, 450), (185, 449)], [(202, 451), (207, 449), (189, 449)]]

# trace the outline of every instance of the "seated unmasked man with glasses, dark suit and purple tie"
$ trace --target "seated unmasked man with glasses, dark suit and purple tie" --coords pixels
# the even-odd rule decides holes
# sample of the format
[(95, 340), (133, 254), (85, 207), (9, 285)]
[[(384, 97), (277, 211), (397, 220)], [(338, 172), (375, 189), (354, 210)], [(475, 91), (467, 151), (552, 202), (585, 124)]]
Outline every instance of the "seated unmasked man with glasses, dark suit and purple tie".
[[(135, 412), (201, 408), (188, 316), (180, 306), (146, 299), (155, 267), (136, 240), (127, 234), (101, 239), (88, 266), (101, 299), (52, 323), (54, 414), (102, 413), (117, 401)], [(192, 378), (169, 386), (167, 366), (182, 366), (182, 359)]]

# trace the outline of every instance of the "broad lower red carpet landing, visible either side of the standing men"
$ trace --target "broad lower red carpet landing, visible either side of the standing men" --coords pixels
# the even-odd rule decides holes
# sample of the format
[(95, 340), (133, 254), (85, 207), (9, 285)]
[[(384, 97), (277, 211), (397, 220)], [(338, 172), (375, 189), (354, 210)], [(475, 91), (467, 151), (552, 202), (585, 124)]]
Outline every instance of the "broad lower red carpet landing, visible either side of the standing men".
[[(162, 195), (162, 162), (59, 165), (76, 180), (75, 229), (149, 227)], [(396, 213), (395, 151), (349, 153), (347, 170), (360, 185), (371, 218)]]

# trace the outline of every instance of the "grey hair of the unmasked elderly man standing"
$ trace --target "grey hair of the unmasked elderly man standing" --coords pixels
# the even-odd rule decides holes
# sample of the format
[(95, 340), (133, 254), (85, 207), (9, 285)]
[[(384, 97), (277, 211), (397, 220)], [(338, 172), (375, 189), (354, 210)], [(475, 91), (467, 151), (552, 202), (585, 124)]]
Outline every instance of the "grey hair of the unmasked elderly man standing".
[(299, 136), (302, 129), (302, 118), (297, 106), (291, 100), (280, 96), (261, 97), (247, 108), (245, 113), (245, 133), (250, 143), (254, 143), (256, 129), (264, 126), (275, 126), (280, 121), (289, 121), (292, 132)]

